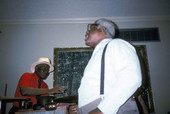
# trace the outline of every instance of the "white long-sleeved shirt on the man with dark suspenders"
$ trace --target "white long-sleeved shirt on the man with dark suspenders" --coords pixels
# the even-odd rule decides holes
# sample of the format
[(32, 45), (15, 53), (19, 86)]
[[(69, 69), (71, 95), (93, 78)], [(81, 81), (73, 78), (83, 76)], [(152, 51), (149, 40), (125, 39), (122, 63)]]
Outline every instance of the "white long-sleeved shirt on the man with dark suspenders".
[(94, 49), (78, 90), (79, 107), (100, 98), (101, 56), (105, 45), (104, 99), (98, 108), (116, 114), (119, 107), (141, 86), (141, 69), (135, 48), (121, 39), (104, 39)]

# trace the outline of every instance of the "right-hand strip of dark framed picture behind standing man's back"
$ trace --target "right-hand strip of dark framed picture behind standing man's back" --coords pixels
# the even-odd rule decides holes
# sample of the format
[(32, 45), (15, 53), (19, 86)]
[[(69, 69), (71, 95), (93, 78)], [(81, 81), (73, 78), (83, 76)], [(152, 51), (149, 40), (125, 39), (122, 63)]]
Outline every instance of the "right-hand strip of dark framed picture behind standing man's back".
[(141, 95), (149, 110), (149, 113), (154, 113), (155, 106), (154, 106), (153, 93), (151, 87), (146, 45), (134, 45), (134, 47), (139, 57), (140, 64), (141, 64), (141, 71), (142, 71), (142, 85), (135, 94), (137, 96)]

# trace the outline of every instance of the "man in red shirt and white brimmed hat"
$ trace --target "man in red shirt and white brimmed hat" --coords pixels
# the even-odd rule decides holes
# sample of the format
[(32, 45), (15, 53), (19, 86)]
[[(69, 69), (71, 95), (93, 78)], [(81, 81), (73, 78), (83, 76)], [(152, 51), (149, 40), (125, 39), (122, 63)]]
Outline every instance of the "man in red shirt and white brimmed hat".
[[(36, 96), (48, 95), (58, 92), (63, 92), (64, 89), (60, 87), (48, 88), (44, 80), (49, 76), (50, 72), (54, 70), (49, 58), (39, 58), (38, 61), (31, 65), (32, 73), (24, 73), (17, 85), (15, 97), (30, 98), (33, 105), (37, 103)], [(19, 109), (19, 103), (14, 102), (9, 114), (14, 114)]]

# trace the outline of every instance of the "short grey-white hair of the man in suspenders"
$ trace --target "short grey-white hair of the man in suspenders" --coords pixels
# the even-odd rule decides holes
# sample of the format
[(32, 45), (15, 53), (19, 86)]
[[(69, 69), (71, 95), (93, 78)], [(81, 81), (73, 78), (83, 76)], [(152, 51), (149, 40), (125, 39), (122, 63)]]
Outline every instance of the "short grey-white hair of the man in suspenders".
[(106, 28), (105, 32), (108, 36), (112, 38), (115, 36), (115, 23), (113, 21), (102, 18), (96, 20), (96, 24), (99, 24), (98, 28), (105, 27)]

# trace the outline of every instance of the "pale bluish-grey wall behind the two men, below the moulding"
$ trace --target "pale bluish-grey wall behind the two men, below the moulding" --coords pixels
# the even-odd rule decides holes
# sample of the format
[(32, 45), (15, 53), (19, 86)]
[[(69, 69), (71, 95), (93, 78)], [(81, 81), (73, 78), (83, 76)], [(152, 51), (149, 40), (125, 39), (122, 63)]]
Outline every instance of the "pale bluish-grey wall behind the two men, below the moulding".
[[(88, 22), (92, 22), (93, 19)], [(32, 24), (0, 24), (0, 95), (8, 84), (7, 96), (13, 97), (17, 82), (24, 72), (30, 72), (30, 65), (39, 57), (53, 61), (55, 47), (83, 47), (86, 22), (53, 22)], [(118, 21), (120, 28), (159, 27), (160, 42), (141, 42), (147, 46), (151, 86), (157, 114), (170, 111), (169, 89), (169, 30), (170, 21)], [(46, 80), (53, 86), (53, 74)], [(11, 105), (8, 105), (8, 109)]]

